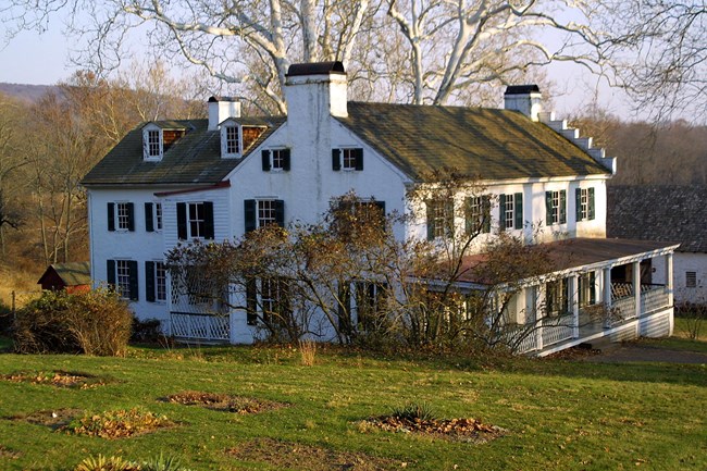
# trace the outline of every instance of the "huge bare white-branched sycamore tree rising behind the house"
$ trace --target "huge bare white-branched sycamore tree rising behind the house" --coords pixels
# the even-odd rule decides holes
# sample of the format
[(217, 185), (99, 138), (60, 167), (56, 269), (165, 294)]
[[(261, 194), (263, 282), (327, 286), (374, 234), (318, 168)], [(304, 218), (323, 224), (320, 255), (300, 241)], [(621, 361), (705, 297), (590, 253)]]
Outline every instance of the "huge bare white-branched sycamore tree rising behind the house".
[(120, 64), (134, 30), (156, 53), (240, 84), (284, 113), (292, 63), (342, 61), (361, 98), (467, 102), (484, 83), (517, 79), (551, 61), (600, 61), (593, 2), (556, 0), (11, 0), (8, 33), (55, 16), (86, 48), (85, 67)]

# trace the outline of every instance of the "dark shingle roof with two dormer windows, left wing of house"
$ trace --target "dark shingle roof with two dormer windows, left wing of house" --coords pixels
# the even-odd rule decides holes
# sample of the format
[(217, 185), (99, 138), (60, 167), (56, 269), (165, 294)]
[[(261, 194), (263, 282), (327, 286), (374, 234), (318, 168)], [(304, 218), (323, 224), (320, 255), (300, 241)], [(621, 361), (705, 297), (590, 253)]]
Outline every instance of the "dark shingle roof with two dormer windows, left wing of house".
[[(255, 149), (273, 131), (284, 123), (284, 117), (238, 117), (244, 125), (268, 126), (250, 150)], [(164, 152), (159, 162), (142, 160), (142, 127), (131, 131), (84, 177), (84, 185), (170, 185), (211, 184), (222, 181), (243, 159), (222, 159), (219, 131), (208, 131), (208, 120), (162, 121), (158, 125), (181, 126), (187, 129)], [(247, 156), (249, 150), (245, 152)], [(245, 156), (244, 156), (245, 157)]]

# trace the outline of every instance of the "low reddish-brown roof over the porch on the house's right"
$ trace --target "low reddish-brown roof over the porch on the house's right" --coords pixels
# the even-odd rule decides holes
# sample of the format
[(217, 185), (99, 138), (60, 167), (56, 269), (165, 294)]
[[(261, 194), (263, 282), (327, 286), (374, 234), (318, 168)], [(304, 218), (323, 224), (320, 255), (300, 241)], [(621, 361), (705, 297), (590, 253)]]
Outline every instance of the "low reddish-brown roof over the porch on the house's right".
[[(678, 243), (666, 241), (578, 237), (539, 244), (531, 247), (531, 250), (542, 250), (546, 253), (549, 265), (546, 274), (549, 275), (640, 261), (673, 252), (679, 246)], [(458, 282), (487, 284), (484, 280), (484, 265), (487, 260), (486, 253), (464, 257)]]

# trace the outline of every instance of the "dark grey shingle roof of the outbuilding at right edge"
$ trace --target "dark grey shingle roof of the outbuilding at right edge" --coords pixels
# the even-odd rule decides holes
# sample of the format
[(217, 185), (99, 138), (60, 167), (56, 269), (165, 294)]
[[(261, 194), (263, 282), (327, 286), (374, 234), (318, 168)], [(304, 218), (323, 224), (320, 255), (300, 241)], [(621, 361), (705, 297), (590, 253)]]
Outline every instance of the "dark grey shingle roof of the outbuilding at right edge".
[(707, 185), (607, 188), (609, 237), (674, 240), (678, 251), (707, 252)]

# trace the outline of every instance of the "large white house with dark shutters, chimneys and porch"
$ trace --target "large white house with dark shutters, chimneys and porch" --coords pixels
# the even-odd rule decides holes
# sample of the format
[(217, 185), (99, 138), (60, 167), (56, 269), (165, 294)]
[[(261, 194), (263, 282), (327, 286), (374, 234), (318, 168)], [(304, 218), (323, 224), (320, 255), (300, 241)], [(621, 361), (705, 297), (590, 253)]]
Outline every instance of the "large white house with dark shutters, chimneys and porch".
[[(349, 102), (344, 67), (333, 62), (293, 65), (285, 97), (287, 116), (246, 117), (238, 103), (211, 98), (208, 120), (146, 123), (116, 145), (83, 181), (95, 283), (115, 284), (139, 318), (159, 319), (172, 335), (250, 343), (257, 325), (245, 310), (213, 315), (170, 296), (166, 251), (194, 238), (220, 241), (266, 224), (313, 222), (351, 190), (386, 212), (412, 215), (396, 237), (443, 237), (445, 220), (463, 227), (468, 195), (455, 198), (451, 211), (414, 207), (406, 195), (430, 183), (435, 169), (454, 168), (481, 178), (499, 201), (477, 252), (507, 231), (567, 256), (551, 274), (561, 282), (526, 286), (509, 315), (520, 324), (529, 312), (542, 318), (536, 306), (551, 290), (571, 321), (548, 321), (524, 351), (671, 333), (672, 277), (642, 284), (640, 264), (660, 259), (669, 274), (677, 246), (606, 239), (615, 159), (541, 112), (537, 87), (508, 87), (505, 110)], [(583, 323), (583, 308), (600, 302), (620, 319)]]

